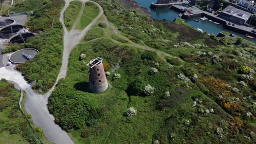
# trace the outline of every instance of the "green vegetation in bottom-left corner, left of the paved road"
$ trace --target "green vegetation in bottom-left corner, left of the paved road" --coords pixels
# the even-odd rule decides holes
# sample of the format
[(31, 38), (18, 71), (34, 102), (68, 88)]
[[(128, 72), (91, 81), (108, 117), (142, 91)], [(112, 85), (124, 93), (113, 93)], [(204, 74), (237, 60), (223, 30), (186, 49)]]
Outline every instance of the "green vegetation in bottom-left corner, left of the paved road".
[(19, 107), (20, 92), (0, 80), (0, 143), (40, 143)]

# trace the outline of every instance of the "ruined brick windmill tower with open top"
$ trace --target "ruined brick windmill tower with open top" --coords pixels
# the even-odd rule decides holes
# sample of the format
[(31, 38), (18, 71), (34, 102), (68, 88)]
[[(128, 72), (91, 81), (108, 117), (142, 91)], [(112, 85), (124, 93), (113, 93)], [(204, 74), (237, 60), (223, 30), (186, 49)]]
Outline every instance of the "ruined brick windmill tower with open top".
[(89, 89), (94, 93), (102, 93), (108, 88), (108, 81), (106, 79), (102, 61), (102, 58), (97, 57), (95, 59), (91, 59), (87, 64), (87, 66), (90, 67)]

